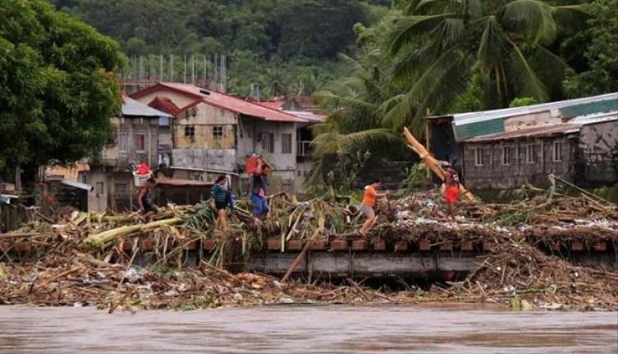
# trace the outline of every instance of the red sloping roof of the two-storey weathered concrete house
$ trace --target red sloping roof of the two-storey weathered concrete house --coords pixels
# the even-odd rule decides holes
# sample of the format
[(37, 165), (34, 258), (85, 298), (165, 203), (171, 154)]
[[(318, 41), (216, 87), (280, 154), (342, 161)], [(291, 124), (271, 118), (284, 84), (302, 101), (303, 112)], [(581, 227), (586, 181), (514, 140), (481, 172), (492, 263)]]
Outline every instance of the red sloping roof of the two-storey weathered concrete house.
[(276, 109), (270, 109), (269, 107), (261, 106), (251, 101), (245, 101), (244, 99), (239, 99), (234, 96), (222, 94), (221, 92), (203, 89), (193, 84), (178, 84), (175, 82), (158, 82), (154, 86), (148, 87), (147, 89), (143, 89), (139, 92), (136, 92), (135, 94), (132, 94), (131, 97), (137, 99), (141, 96), (145, 96), (146, 94), (151, 94), (153, 92), (157, 92), (159, 90), (166, 90), (166, 89), (170, 91), (178, 92), (180, 94), (185, 94), (185, 96), (192, 96), (195, 99), (195, 101), (192, 104), (189, 104), (188, 106), (181, 108), (180, 109), (181, 111), (184, 111), (185, 109), (188, 109), (191, 106), (195, 106), (196, 103), (203, 102), (211, 106), (219, 107), (220, 109), (232, 111), (235, 114), (244, 114), (246, 116), (254, 116), (256, 118), (261, 118), (261, 119), (264, 119), (264, 121), (277, 121), (277, 122), (288, 122), (288, 123), (306, 123), (307, 122), (303, 118), (299, 118), (291, 114), (286, 114)]

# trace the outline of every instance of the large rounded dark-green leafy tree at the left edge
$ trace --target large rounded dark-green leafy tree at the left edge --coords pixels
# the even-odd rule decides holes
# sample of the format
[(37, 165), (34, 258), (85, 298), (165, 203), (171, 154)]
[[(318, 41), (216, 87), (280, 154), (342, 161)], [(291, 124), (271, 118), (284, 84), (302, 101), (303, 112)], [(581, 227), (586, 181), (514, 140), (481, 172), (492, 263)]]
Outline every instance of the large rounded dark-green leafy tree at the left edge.
[(119, 45), (48, 1), (0, 6), (0, 170), (72, 162), (107, 143)]

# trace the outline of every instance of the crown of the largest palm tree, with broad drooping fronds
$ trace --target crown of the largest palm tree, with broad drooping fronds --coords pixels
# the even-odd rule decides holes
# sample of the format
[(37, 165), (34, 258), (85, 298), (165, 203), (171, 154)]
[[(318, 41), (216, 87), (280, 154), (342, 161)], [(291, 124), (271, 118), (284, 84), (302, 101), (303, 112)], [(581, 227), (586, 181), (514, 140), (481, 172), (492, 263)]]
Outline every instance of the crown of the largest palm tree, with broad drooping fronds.
[[(491, 108), (516, 97), (547, 101), (547, 84), (567, 65), (548, 50), (564, 26), (585, 19), (582, 6), (538, 0), (409, 0), (387, 46), (396, 56), (395, 82), (408, 90), (383, 106), (387, 120), (426, 109), (443, 111), (484, 75)], [(543, 72), (543, 74), (540, 74)]]

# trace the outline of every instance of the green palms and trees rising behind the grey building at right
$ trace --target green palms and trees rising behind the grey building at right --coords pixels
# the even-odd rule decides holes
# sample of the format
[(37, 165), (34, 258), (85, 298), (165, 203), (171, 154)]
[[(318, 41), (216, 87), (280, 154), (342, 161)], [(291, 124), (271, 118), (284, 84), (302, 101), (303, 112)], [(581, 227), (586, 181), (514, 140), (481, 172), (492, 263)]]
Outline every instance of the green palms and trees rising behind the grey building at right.
[[(618, 89), (618, 0), (399, 0), (357, 26), (354, 72), (316, 94), (332, 109), (315, 127), (317, 164), (369, 148), (401, 155), (401, 129), (423, 116), (522, 106)], [(397, 151), (396, 148), (400, 150)]]

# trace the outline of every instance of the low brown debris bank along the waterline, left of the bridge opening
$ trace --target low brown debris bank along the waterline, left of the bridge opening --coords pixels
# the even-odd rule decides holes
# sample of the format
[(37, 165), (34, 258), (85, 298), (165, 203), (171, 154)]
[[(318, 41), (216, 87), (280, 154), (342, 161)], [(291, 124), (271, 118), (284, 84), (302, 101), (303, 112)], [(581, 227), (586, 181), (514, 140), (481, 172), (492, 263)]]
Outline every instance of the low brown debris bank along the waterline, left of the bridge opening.
[(200, 267), (133, 267), (109, 263), (68, 249), (32, 265), (4, 266), (0, 304), (97, 306), (121, 309), (208, 309), (219, 306), (353, 303), (379, 299), (371, 289), (278, 282), (252, 273), (231, 274), (202, 261)]

